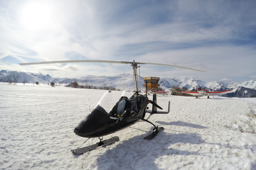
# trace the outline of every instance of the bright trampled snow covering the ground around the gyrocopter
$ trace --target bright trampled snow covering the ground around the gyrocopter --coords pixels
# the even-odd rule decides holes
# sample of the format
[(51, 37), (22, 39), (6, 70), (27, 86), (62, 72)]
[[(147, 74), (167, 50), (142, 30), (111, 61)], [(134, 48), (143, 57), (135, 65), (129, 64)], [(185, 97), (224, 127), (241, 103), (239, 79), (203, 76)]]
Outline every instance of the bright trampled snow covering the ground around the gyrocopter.
[(0, 169), (256, 169), (255, 98), (159, 95), (157, 104), (166, 111), (171, 101), (171, 111), (150, 117), (165, 128), (153, 140), (143, 139), (153, 126), (138, 122), (105, 137), (120, 138), (111, 145), (72, 154), (87, 140), (74, 127), (104, 93), (1, 83)]

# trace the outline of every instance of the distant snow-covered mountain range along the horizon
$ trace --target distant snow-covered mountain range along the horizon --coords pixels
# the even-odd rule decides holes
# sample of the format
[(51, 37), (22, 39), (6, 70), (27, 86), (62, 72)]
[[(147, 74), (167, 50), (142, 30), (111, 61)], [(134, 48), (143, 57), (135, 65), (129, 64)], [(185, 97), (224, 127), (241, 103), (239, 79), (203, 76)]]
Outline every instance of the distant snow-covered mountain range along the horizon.
[[(143, 78), (139, 77), (139, 86), (144, 88)], [(49, 74), (43, 75), (31, 72), (19, 72), (19, 71), (0, 71), (0, 82), (16, 82), (16, 83), (35, 83), (48, 84), (50, 82), (62, 84), (70, 84), (77, 82), (78, 84), (93, 85), (95, 87), (114, 87), (116, 89), (133, 89), (133, 75), (132, 74), (117, 74), (112, 76), (79, 76), (76, 78), (52, 78)], [(195, 91), (196, 85), (202, 87), (208, 87), (214, 89), (214, 91), (223, 91), (227, 89), (236, 89), (235, 92), (226, 94), (226, 97), (245, 97), (256, 96), (256, 78), (253, 80), (237, 83), (233, 81), (221, 81), (221, 82), (204, 82), (202, 80), (195, 80), (193, 78), (185, 79), (160, 79), (159, 82), (161, 88), (169, 89), (172, 86), (179, 87), (182, 90)], [(244, 91), (248, 93), (245, 94)]]

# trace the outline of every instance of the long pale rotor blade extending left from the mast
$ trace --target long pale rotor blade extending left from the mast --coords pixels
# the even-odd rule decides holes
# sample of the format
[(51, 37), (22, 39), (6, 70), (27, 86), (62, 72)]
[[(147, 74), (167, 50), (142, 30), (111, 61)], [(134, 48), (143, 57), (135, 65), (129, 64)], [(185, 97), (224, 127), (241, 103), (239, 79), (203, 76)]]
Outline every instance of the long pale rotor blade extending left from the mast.
[(35, 62), (35, 63), (20, 63), (21, 66), (35, 65), (35, 64), (56, 64), (56, 63), (117, 63), (117, 64), (132, 64), (132, 62), (117, 62), (107, 60), (66, 60), (66, 61), (52, 61), (52, 62)]

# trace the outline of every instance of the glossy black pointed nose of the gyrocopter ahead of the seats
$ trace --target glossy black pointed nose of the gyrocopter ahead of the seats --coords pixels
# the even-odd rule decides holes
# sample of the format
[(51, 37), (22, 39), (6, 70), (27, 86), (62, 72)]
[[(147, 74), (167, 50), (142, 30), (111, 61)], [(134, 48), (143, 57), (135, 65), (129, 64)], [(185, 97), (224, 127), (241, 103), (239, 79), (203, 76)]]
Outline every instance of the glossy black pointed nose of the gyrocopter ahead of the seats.
[(86, 138), (101, 137), (109, 134), (108, 128), (113, 123), (109, 115), (94, 109), (75, 127), (74, 133)]

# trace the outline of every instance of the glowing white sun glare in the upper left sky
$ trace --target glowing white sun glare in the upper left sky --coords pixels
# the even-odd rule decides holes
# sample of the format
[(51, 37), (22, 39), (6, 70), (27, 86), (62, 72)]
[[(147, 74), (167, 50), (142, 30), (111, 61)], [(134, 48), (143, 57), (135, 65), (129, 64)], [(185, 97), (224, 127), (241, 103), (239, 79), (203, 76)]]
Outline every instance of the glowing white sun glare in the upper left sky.
[(31, 3), (22, 9), (21, 24), (25, 29), (37, 30), (49, 27), (52, 7), (49, 3)]

